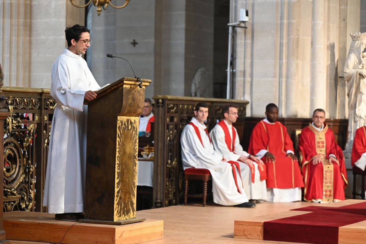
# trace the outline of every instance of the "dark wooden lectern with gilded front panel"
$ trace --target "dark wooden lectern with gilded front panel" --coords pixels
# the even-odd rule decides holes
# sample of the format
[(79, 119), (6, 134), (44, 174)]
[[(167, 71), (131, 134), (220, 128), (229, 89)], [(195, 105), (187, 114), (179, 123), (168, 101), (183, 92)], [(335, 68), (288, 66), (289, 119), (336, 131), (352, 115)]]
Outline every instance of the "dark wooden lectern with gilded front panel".
[(88, 105), (85, 220), (121, 225), (136, 219), (139, 116), (151, 80), (124, 77)]

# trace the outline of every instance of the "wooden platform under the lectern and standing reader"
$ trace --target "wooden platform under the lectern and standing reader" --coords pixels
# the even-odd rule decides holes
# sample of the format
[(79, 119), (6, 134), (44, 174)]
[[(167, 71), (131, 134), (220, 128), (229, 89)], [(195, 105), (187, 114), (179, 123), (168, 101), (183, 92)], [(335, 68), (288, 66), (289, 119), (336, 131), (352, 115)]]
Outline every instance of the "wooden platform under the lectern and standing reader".
[[(20, 243), (135, 244), (163, 238), (163, 221), (147, 219), (128, 225), (98, 225), (57, 221), (55, 214), (5, 212), (6, 239)], [(24, 241), (24, 242), (23, 242)]]

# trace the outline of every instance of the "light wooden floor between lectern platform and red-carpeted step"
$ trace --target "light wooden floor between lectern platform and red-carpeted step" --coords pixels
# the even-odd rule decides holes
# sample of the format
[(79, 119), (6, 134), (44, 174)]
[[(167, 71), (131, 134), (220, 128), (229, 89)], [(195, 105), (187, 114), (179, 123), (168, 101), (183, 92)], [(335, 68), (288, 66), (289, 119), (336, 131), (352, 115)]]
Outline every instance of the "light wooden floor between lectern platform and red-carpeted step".
[[(352, 201), (358, 203), (361, 200)], [(339, 204), (343, 203), (345, 202), (337, 204), (341, 206)], [(279, 241), (234, 238), (234, 221), (238, 219), (256, 219), (265, 214), (276, 214), (306, 206), (324, 206), (324, 204), (264, 202), (257, 204), (257, 207), (254, 208), (236, 208), (219, 206), (213, 203), (208, 203), (206, 207), (202, 207), (202, 204), (198, 203), (188, 203), (187, 206), (178, 205), (137, 211), (137, 218), (162, 219), (164, 221), (164, 238), (148, 241), (146, 244), (289, 244), (288, 242)], [(330, 205), (327, 204), (326, 206)], [(40, 244), (39, 242), (30, 241), (11, 241), (11, 243)]]

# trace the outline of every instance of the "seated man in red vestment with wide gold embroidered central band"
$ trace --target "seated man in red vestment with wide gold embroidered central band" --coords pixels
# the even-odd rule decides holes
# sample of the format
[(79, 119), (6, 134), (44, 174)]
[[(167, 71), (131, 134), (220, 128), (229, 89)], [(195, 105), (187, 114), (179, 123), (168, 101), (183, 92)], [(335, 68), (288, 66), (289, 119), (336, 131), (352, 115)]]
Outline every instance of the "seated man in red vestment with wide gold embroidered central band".
[(348, 184), (343, 152), (335, 142), (333, 131), (324, 121), (325, 111), (316, 109), (313, 123), (300, 134), (304, 199), (308, 202), (344, 200), (344, 188)]

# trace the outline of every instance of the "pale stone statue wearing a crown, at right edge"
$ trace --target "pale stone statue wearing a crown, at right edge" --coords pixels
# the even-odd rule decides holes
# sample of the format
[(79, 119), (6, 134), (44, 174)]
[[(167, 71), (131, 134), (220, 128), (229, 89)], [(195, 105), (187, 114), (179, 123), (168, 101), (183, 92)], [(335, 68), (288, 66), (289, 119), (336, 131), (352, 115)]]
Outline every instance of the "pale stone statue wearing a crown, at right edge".
[(344, 64), (348, 96), (348, 141), (345, 156), (351, 156), (356, 129), (366, 121), (366, 33), (351, 34), (352, 42)]

